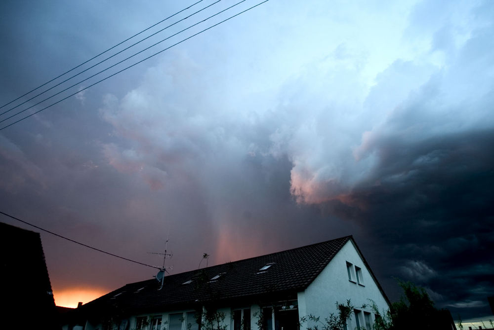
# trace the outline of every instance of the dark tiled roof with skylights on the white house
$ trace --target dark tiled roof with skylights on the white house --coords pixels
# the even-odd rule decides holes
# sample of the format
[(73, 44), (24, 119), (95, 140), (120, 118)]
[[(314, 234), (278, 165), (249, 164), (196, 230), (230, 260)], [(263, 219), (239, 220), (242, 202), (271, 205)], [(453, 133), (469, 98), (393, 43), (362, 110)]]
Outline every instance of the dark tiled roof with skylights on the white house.
[[(260, 257), (168, 275), (165, 285), (155, 279), (127, 284), (84, 304), (82, 310), (118, 306), (127, 310), (163, 310), (212, 300), (254, 299), (262, 295), (304, 290), (351, 239), (346, 236)], [(260, 269), (271, 263), (265, 271)], [(216, 280), (214, 276), (220, 275)], [(192, 280), (190, 284), (183, 284)], [(143, 288), (143, 289), (141, 289)], [(141, 289), (141, 290), (139, 290)]]

